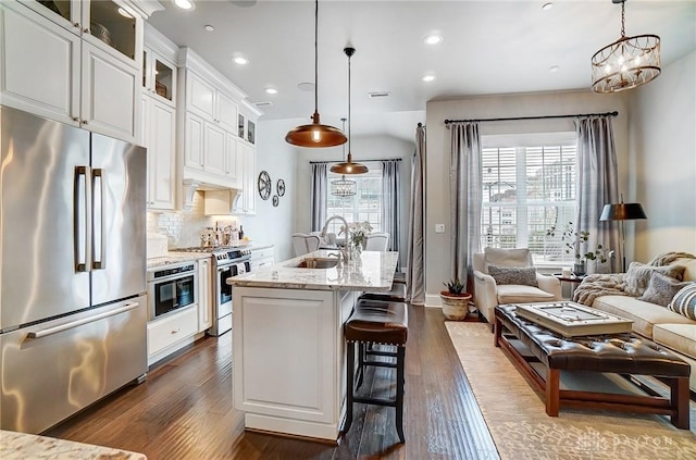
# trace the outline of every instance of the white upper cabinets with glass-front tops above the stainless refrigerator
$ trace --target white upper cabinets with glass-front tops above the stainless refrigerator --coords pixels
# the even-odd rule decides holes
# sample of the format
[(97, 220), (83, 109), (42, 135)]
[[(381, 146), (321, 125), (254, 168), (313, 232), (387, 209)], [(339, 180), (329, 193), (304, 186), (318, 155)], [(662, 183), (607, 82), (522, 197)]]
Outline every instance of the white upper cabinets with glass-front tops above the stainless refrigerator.
[(3, 0), (2, 103), (137, 142), (142, 17), (152, 5)]

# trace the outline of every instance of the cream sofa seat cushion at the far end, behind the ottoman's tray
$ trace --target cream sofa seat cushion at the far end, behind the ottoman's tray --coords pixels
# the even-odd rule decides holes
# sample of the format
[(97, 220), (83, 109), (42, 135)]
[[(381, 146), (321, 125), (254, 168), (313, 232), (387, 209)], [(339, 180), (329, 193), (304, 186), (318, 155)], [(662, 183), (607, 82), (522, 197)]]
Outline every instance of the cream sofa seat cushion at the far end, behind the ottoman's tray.
[(694, 324), (694, 321), (686, 316), (634, 297), (601, 296), (597, 297), (592, 306), (633, 321), (633, 331), (647, 338), (652, 338), (655, 324)]

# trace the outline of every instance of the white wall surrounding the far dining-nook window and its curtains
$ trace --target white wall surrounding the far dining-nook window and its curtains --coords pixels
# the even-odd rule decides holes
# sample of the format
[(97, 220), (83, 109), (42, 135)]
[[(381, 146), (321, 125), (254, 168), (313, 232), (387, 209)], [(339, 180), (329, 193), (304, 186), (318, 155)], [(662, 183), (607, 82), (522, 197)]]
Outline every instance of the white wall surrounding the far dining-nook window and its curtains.
[[(351, 136), (352, 160), (355, 162), (364, 162), (364, 160), (380, 159), (401, 159), (401, 201), (400, 215), (401, 228), (399, 235), (400, 248), (399, 256), (401, 262), (406, 261), (406, 239), (408, 238), (408, 216), (409, 200), (411, 190), (411, 157), (415, 149), (415, 125), (413, 125), (413, 141), (409, 142), (391, 136)], [(307, 149), (298, 150), (297, 162), (297, 210), (295, 213), (295, 232), (309, 232), (311, 225), (311, 204), (309, 197), (311, 195), (311, 166), (310, 161), (341, 161), (341, 147), (332, 147), (326, 149)], [(372, 165), (368, 165), (372, 167)], [(378, 163), (376, 166), (380, 167)]]

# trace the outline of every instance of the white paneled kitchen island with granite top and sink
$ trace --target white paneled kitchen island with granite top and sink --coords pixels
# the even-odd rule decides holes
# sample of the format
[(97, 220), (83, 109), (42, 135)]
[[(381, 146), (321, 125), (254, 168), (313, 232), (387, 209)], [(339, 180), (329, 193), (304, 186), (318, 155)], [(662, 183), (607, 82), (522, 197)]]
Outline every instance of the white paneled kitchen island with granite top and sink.
[(227, 279), (234, 286), (233, 397), (247, 430), (338, 438), (343, 324), (360, 293), (389, 290), (398, 252), (363, 251), (349, 263), (334, 263), (336, 254), (319, 250)]

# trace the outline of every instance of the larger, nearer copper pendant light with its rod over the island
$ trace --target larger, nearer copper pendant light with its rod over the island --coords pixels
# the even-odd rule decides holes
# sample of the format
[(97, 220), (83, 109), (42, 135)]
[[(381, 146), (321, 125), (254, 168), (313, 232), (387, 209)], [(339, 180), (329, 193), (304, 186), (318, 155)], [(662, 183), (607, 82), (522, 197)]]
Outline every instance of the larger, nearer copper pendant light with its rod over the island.
[(319, 0), (314, 2), (314, 114), (312, 123), (290, 129), (285, 135), (285, 141), (299, 147), (335, 147), (346, 144), (346, 135), (338, 128), (323, 125), (319, 120), (319, 52), (316, 42), (319, 36)]

